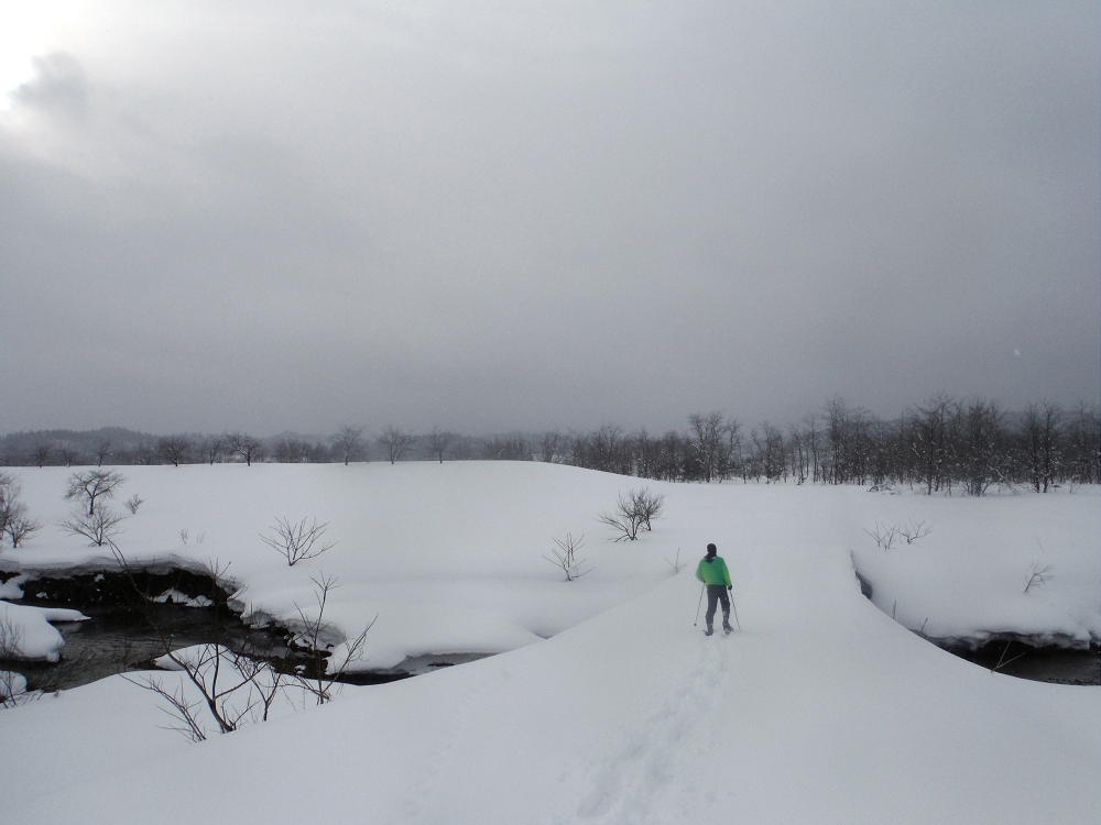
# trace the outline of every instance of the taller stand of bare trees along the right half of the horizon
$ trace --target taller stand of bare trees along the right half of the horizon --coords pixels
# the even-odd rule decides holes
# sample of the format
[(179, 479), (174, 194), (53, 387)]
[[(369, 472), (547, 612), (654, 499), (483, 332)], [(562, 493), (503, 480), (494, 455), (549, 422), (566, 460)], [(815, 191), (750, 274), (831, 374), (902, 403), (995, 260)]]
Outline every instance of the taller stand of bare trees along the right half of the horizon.
[(937, 396), (884, 420), (830, 400), (786, 431), (762, 424), (748, 432), (720, 413), (694, 414), (683, 431), (651, 436), (606, 425), (588, 435), (546, 433), (532, 455), (672, 482), (727, 479), (799, 484), (908, 485), (933, 494), (981, 496), (993, 486), (1095, 484), (1101, 416), (1049, 403), (1009, 413), (983, 399)]

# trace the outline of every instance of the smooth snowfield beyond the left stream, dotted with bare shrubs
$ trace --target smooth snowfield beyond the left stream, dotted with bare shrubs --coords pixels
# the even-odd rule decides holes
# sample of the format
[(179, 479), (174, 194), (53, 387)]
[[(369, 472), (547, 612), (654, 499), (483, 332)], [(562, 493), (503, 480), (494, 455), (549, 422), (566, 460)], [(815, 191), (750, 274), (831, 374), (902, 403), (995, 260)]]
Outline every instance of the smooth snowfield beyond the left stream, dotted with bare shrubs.
[[(63, 468), (12, 471), (45, 527), (0, 569), (116, 569), (106, 548), (65, 535)], [(645, 592), (671, 572), (668, 541), (604, 540), (596, 522), (641, 482), (516, 462), (121, 468), (110, 506), (138, 494), (117, 541), (129, 561), (228, 564), (246, 607), (287, 625), (314, 604), (318, 574), (336, 576), (328, 619), (355, 636), (378, 616), (352, 669), (407, 656), (500, 652), (538, 641)], [(327, 521), (325, 554), (288, 566), (260, 540), (277, 517)], [(661, 522), (657, 522), (661, 525)], [(554, 537), (586, 534), (593, 570), (568, 586), (543, 557)], [(641, 547), (641, 549), (640, 549)]]

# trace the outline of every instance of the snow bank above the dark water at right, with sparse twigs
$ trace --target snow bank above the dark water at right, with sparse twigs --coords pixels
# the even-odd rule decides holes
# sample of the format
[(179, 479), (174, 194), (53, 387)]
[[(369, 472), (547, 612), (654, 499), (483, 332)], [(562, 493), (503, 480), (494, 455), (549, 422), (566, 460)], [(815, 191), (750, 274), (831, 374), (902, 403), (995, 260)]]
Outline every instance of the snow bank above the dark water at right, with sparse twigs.
[[(1101, 640), (1101, 495), (989, 498), (866, 496), (851, 513), (864, 529), (924, 524), (931, 532), (890, 550), (852, 535), (853, 558), (875, 604), (942, 644), (1016, 635), (1035, 644)], [(863, 530), (861, 530), (863, 532)], [(1033, 571), (1047, 581), (1025, 592)]]

